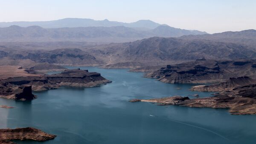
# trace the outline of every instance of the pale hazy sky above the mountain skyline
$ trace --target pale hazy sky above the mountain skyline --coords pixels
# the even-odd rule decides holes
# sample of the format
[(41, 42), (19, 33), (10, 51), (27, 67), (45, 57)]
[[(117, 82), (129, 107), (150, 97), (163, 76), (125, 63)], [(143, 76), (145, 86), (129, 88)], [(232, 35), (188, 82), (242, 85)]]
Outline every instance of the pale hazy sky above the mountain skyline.
[(256, 29), (256, 0), (0, 0), (0, 21), (152, 20), (216, 33)]

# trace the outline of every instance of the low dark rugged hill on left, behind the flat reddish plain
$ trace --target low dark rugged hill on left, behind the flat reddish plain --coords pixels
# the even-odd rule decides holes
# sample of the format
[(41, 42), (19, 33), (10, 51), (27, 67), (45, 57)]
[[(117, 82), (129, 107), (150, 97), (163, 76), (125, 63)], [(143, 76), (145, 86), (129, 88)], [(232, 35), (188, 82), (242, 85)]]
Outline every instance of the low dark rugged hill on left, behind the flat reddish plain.
[[(14, 51), (7, 53), (5, 56), (11, 59), (30, 59), (34, 62), (47, 62), (58, 65), (95, 66), (104, 64), (102, 60), (96, 59), (96, 57), (78, 48), (55, 49), (52, 51)], [(38, 68), (38, 66), (35, 68)]]

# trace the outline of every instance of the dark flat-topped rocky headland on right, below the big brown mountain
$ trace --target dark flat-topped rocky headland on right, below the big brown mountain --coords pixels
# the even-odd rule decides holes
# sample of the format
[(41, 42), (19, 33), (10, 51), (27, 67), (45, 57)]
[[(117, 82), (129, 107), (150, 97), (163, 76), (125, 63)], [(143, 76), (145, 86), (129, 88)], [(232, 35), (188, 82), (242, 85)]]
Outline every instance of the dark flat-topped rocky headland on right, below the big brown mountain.
[(255, 78), (256, 60), (214, 61), (201, 60), (167, 65), (157, 71), (147, 73), (145, 77), (157, 78), (166, 83), (213, 83), (231, 77), (250, 76)]

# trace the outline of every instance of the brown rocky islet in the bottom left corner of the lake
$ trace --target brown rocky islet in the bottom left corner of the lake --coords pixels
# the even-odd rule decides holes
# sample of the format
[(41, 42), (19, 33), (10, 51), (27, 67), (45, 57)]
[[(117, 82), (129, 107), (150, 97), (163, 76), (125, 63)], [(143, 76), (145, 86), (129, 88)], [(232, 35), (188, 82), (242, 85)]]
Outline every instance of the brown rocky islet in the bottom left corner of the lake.
[(1, 144), (15, 144), (9, 140), (34, 140), (34, 141), (47, 141), (54, 139), (56, 136), (45, 133), (41, 130), (26, 127), (16, 129), (0, 129), (0, 143)]

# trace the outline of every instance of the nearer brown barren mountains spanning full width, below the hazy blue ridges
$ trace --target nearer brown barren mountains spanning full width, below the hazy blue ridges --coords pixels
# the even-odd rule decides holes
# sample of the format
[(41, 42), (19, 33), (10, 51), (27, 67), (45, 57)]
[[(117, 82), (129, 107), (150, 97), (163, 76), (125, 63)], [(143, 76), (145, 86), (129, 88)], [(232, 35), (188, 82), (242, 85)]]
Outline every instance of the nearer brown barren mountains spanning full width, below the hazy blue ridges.
[[(2, 42), (0, 58), (31, 59), (59, 65), (100, 65), (103, 68), (168, 65), (203, 57), (215, 60), (256, 59), (256, 46), (253, 44), (256, 42), (255, 34), (255, 30), (248, 30), (206, 34), (205, 39), (204, 35), (151, 37), (134, 42), (101, 45), (86, 42)], [(241, 35), (244, 35), (244, 39), (237, 40)], [(64, 48), (60, 48), (59, 43)]]

